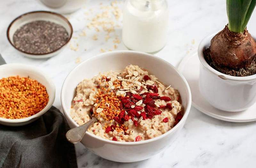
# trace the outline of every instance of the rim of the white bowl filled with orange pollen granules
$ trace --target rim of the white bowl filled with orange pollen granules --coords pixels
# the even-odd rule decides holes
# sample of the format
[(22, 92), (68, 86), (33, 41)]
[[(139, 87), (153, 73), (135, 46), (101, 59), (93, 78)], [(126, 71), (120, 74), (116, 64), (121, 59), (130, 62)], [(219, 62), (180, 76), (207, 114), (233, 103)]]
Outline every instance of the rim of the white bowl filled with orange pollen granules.
[[(53, 93), (51, 93), (53, 95), (52, 99), (50, 100), (50, 97), (49, 97), (49, 101), (47, 103), (47, 105), (44, 107), (43, 110), (39, 111), (38, 113), (30, 116), (30, 117), (26, 117), (26, 118), (20, 118), (20, 119), (8, 119), (8, 118), (1, 118), (0, 117), (0, 122), (4, 122), (4, 123), (24, 123), (24, 122), (27, 122), (29, 120), (32, 120), (34, 118), (37, 118), (37, 117), (40, 117), (41, 115), (43, 115), (46, 111), (48, 111), (51, 107), (52, 107), (52, 104), (55, 100), (55, 91), (56, 91), (56, 88), (55, 88), (55, 85), (54, 83), (52, 82), (52, 80), (50, 78), (48, 78), (44, 73), (42, 73), (41, 71), (37, 70), (37, 68), (35, 66), (32, 66), (32, 65), (25, 65), (25, 64), (16, 64), (16, 63), (13, 63), (13, 64), (4, 64), (4, 65), (1, 65), (0, 67), (7, 67), (7, 66), (18, 66), (18, 67), (23, 67), (23, 68), (26, 68), (26, 69), (29, 69), (29, 70), (32, 70), (33, 72), (36, 72), (37, 74), (43, 76), (46, 81), (50, 84), (52, 90), (53, 90)], [(48, 93), (48, 95), (50, 96), (50, 93)]]

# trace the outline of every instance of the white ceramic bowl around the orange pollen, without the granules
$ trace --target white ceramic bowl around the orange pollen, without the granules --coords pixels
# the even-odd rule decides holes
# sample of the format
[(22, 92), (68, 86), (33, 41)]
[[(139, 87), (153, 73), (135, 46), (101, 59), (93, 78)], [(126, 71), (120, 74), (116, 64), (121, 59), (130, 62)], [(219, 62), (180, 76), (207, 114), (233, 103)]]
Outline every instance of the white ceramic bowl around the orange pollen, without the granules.
[(21, 77), (29, 76), (29, 78), (35, 79), (39, 83), (43, 84), (46, 87), (46, 91), (49, 95), (49, 101), (42, 111), (33, 116), (21, 119), (0, 118), (0, 124), (5, 126), (23, 126), (35, 121), (51, 108), (55, 99), (55, 86), (52, 80), (46, 77), (43, 72), (37, 70), (36, 67), (23, 64), (4, 64), (0, 66), (0, 79), (17, 75)]

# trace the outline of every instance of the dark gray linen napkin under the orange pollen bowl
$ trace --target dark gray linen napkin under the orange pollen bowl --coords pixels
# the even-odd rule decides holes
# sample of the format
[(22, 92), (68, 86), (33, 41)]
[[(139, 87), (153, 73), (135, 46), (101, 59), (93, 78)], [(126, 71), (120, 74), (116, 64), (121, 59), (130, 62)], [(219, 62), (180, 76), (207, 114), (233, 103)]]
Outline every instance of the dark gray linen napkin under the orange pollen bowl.
[(74, 144), (65, 136), (68, 130), (64, 116), (53, 106), (28, 125), (0, 125), (0, 167), (77, 168)]

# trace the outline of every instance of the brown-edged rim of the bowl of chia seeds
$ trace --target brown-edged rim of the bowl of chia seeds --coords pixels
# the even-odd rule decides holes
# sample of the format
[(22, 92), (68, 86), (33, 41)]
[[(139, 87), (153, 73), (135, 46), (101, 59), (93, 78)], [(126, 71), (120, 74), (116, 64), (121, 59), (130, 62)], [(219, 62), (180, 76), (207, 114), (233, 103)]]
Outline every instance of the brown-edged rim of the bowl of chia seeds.
[[(10, 34), (9, 34), (10, 28), (12, 27), (13, 23), (14, 23), (15, 21), (19, 20), (20, 18), (22, 18), (22, 17), (24, 17), (24, 16), (26, 16), (26, 15), (29, 15), (29, 14), (33, 14), (33, 13), (48, 13), (48, 14), (50, 14), (50, 15), (58, 16), (60, 19), (64, 20), (64, 21), (68, 24), (68, 27), (70, 28), (70, 35), (69, 35), (69, 37), (68, 37), (67, 42), (65, 42), (60, 48), (58, 48), (58, 49), (56, 49), (56, 50), (53, 50), (53, 51), (47, 52), (47, 53), (42, 53), (42, 54), (41, 54), (41, 53), (29, 53), (29, 52), (26, 52), (26, 51), (22, 51), (22, 50), (18, 49), (15, 45), (13, 45), (12, 42), (11, 42), (11, 40), (10, 40), (11, 37), (10, 37)], [(63, 16), (63, 15), (61, 15), (61, 14), (59, 14), (59, 13), (52, 12), (52, 11), (30, 11), (30, 12), (27, 12), (27, 13), (23, 13), (23, 14), (21, 14), (20, 16), (18, 16), (18, 17), (16, 17), (15, 19), (13, 19), (12, 22), (9, 24), (9, 26), (8, 26), (8, 28), (7, 28), (6, 34), (7, 34), (7, 39), (8, 39), (8, 41), (9, 41), (9, 43), (10, 43), (10, 44), (12, 45), (12, 47), (15, 48), (16, 50), (20, 51), (21, 53), (31, 55), (31, 56), (28, 56), (28, 57), (32, 57), (32, 58), (33, 58), (33, 57), (35, 57), (35, 56), (41, 56), (41, 58), (44, 58), (44, 57), (42, 57), (42, 56), (55, 53), (55, 52), (59, 51), (60, 49), (64, 48), (64, 47), (68, 44), (68, 42), (71, 40), (71, 37), (72, 37), (72, 34), (73, 34), (73, 27), (72, 27), (71, 23), (68, 21), (68, 19), (67, 19), (65, 16)]]

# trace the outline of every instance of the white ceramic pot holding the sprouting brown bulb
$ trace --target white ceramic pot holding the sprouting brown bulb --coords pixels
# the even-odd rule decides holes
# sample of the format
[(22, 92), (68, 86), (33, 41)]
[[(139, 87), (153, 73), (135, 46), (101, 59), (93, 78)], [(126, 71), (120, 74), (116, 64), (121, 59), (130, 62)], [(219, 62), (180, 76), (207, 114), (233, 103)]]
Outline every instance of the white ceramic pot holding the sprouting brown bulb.
[(246, 110), (256, 101), (256, 74), (236, 77), (213, 69), (205, 61), (203, 50), (209, 48), (215, 34), (204, 38), (198, 47), (198, 57), (201, 62), (199, 90), (217, 109), (230, 112)]

